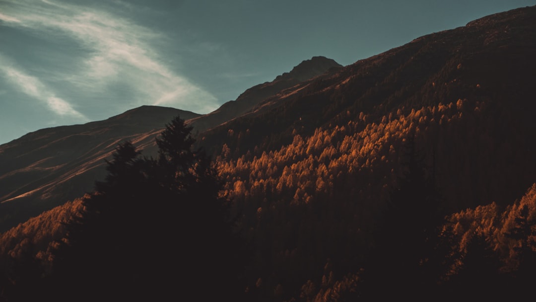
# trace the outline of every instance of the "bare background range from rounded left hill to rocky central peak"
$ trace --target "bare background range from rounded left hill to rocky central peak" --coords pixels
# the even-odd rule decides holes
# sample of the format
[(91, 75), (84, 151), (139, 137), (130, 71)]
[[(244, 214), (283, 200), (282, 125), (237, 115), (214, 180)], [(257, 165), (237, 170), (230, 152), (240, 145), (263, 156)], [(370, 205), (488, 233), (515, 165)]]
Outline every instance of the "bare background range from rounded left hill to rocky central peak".
[[(325, 57), (305, 60), (273, 82), (251, 87), (236, 101), (200, 115), (180, 109), (142, 106), (105, 121), (41, 129), (0, 146), (0, 231), (55, 205), (80, 197), (104, 175), (105, 159), (124, 140), (144, 154), (154, 153), (154, 138), (175, 115), (194, 131), (224, 123), (282, 89), (341, 65)], [(17, 204), (13, 204), (16, 202)]]

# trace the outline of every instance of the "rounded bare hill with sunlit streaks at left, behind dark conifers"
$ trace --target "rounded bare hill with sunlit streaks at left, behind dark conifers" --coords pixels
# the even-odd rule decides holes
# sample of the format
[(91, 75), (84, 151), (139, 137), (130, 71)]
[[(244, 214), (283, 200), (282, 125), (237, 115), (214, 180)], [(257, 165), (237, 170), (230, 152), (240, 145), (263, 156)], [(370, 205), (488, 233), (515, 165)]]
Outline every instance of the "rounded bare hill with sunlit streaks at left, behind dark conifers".
[(41, 129), (0, 145), (0, 230), (93, 190), (118, 143), (131, 140), (146, 152), (174, 116), (199, 114), (142, 106), (107, 120)]

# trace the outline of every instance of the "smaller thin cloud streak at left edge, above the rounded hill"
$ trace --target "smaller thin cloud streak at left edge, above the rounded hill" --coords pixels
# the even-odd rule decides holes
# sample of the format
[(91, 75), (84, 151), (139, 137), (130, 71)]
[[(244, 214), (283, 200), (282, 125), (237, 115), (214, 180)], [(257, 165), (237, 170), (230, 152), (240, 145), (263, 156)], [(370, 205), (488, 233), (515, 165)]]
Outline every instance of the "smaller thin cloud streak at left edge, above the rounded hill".
[(61, 116), (75, 117), (80, 121), (88, 121), (87, 117), (76, 111), (69, 102), (58, 98), (56, 94), (44, 85), (38, 78), (27, 75), (24, 71), (13, 67), (13, 64), (0, 55), (0, 70), (9, 82), (16, 85), (20, 91), (38, 99), (54, 113)]

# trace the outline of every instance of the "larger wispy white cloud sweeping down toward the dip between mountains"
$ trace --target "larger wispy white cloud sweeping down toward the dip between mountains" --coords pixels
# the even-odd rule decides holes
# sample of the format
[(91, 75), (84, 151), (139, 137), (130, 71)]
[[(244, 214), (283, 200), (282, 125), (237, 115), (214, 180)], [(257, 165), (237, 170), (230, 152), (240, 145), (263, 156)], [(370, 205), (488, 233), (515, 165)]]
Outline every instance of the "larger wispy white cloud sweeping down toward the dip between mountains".
[[(150, 28), (118, 13), (71, 3), (46, 0), (8, 0), (6, 3), (9, 9), (0, 14), (5, 25), (49, 36), (69, 36), (83, 48), (84, 56), (77, 64), (78, 69), (64, 75), (64, 83), (88, 94), (113, 93), (110, 86), (117, 83), (128, 86), (136, 96), (128, 106), (173, 106), (199, 113), (217, 107), (217, 99), (212, 94), (168, 68), (154, 47), (166, 38)], [(12, 71), (11, 77), (16, 78), (15, 75)], [(29, 84), (26, 86), (25, 89), (31, 91)], [(58, 103), (51, 101), (51, 104)]]

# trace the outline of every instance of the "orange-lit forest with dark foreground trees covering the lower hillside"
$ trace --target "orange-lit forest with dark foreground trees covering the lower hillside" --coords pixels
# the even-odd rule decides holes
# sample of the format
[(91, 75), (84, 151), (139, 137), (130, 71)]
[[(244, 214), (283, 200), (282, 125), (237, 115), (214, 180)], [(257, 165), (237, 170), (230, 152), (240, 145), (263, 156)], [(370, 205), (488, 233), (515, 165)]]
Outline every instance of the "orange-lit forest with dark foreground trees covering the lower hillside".
[[(493, 127), (489, 110), (459, 100), (366, 126), (360, 115), (260, 157), (229, 159), (224, 145), (213, 161), (177, 117), (157, 158), (124, 142), (95, 193), (2, 234), (3, 298), (154, 299), (206, 287), (217, 294), (200, 300), (226, 291), (256, 301), (527, 294), (536, 184), (510, 202), (463, 208), (472, 167), (511, 150), (454, 167), (445, 160), (493, 138), (455, 135), (468, 124)], [(458, 179), (441, 176), (452, 169)], [(482, 173), (499, 178), (494, 169)]]

